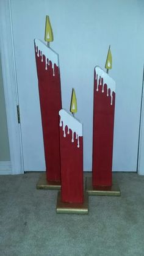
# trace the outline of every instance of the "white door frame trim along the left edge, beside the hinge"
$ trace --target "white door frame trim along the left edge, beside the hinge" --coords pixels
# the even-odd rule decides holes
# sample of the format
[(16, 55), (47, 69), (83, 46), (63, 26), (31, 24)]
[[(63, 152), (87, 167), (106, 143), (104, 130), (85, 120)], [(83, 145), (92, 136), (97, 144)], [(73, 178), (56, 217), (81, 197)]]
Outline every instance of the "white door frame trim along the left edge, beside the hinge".
[(17, 116), (18, 91), (10, 0), (1, 0), (0, 2), (0, 30), (1, 65), (9, 136), (11, 174), (23, 174), (23, 146), (21, 141), (21, 125), (18, 123)]

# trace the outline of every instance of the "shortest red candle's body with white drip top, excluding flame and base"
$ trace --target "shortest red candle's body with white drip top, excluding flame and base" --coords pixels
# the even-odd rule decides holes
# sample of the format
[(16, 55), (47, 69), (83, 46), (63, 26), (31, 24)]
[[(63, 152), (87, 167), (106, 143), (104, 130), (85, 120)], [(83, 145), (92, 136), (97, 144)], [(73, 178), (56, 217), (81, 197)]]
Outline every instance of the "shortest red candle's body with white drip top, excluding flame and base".
[(83, 203), (82, 123), (64, 109), (59, 115), (62, 202)]

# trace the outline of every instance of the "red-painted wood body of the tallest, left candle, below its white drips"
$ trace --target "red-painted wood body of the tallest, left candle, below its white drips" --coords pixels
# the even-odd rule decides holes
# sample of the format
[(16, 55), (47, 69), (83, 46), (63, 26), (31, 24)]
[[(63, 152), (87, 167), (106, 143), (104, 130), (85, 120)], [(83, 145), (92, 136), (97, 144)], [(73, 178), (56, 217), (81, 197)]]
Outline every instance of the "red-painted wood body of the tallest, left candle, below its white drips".
[(38, 89), (40, 95), (41, 122), (43, 127), (43, 142), (45, 148), (46, 177), (48, 181), (60, 181), (60, 148), (59, 148), (59, 110), (62, 108), (60, 90), (60, 71), (51, 60), (48, 70), (45, 70), (45, 56), (37, 56)]

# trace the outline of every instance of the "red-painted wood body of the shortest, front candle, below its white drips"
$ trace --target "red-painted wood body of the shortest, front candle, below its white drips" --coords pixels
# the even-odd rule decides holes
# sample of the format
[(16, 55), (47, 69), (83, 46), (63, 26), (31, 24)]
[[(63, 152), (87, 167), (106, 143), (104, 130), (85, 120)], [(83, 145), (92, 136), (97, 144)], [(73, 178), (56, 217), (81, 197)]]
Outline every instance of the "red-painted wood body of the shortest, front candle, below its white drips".
[(66, 126), (66, 137), (63, 137), (62, 127), (60, 127), (59, 129), (62, 202), (82, 203), (84, 200), (83, 137), (79, 137), (78, 148), (75, 133), (74, 142), (71, 142), (71, 130), (68, 134), (68, 128)]

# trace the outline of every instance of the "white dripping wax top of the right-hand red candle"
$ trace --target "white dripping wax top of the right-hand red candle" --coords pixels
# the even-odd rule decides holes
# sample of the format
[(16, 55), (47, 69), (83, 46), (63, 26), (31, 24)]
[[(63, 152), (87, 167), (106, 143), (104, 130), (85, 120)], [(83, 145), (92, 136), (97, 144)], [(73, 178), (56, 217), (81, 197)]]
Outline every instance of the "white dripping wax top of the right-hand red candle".
[(112, 78), (110, 78), (110, 76), (102, 68), (98, 66), (95, 67), (95, 72), (96, 72), (95, 79), (97, 81), (96, 91), (98, 92), (98, 86), (102, 85), (102, 78), (103, 78), (102, 92), (104, 92), (104, 84), (107, 84), (107, 96), (109, 96), (109, 89), (110, 89), (110, 97), (111, 97), (110, 104), (112, 105), (112, 100), (113, 100), (112, 93), (115, 92), (115, 81)]

